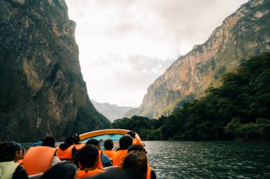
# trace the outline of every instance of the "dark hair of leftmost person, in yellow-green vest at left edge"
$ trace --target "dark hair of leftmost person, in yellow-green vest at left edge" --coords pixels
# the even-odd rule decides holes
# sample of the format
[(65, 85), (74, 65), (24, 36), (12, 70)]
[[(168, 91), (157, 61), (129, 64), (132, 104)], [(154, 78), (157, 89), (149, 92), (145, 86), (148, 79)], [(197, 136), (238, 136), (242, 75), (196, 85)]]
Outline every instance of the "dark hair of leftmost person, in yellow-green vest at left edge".
[(0, 162), (13, 161), (15, 152), (10, 142), (0, 142)]

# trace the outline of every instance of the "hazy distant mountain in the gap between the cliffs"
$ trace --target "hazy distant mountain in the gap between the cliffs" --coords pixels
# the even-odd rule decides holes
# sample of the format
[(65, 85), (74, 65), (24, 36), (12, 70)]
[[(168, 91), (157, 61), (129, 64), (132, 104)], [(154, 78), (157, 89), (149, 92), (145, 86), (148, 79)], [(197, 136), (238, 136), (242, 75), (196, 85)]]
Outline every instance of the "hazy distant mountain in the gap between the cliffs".
[(97, 103), (95, 100), (91, 100), (95, 108), (106, 116), (111, 122), (121, 119), (127, 111), (133, 109), (132, 107), (124, 107), (118, 105), (110, 105), (109, 103)]

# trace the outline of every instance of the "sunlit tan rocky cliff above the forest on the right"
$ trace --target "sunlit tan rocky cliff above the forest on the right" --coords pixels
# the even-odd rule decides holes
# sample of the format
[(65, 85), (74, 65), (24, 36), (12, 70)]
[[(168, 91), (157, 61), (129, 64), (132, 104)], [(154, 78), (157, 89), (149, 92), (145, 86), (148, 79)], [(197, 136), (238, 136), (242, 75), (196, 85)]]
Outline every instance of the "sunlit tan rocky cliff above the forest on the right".
[(225, 72), (241, 60), (270, 50), (270, 1), (250, 0), (228, 16), (202, 45), (179, 57), (148, 87), (143, 103), (125, 114), (149, 118), (170, 115), (183, 100), (200, 98), (211, 86), (220, 85)]

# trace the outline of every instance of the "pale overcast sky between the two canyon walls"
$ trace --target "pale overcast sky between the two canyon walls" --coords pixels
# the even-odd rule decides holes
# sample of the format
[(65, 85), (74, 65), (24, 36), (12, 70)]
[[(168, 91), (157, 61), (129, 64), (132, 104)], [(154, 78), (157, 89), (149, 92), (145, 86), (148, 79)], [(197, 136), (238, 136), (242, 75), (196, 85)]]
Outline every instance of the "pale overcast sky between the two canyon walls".
[(91, 100), (139, 107), (148, 86), (247, 0), (66, 0)]

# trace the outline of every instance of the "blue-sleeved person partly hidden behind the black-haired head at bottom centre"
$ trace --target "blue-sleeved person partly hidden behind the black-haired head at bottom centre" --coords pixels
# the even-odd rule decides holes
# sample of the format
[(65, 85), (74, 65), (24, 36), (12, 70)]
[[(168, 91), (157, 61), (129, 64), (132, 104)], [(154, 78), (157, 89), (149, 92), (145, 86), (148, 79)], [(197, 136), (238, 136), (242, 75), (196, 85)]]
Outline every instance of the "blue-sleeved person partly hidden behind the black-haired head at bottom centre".
[(106, 154), (103, 154), (103, 151), (100, 151), (100, 142), (102, 142), (102, 139), (90, 139), (86, 142), (86, 145), (92, 144), (94, 146), (97, 146), (97, 149), (99, 151), (99, 163), (98, 168), (105, 168), (108, 166), (112, 166), (112, 162), (109, 160), (109, 157)]

